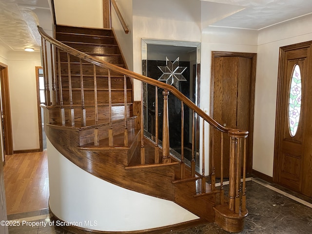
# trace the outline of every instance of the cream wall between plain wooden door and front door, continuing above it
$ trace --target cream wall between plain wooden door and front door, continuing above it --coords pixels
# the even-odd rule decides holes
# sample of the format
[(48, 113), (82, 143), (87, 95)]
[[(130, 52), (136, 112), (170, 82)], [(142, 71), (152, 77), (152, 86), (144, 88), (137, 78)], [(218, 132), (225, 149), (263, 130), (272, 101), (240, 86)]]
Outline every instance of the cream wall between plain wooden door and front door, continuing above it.
[(253, 169), (273, 176), (279, 47), (312, 40), (312, 15), (259, 32), (254, 103)]

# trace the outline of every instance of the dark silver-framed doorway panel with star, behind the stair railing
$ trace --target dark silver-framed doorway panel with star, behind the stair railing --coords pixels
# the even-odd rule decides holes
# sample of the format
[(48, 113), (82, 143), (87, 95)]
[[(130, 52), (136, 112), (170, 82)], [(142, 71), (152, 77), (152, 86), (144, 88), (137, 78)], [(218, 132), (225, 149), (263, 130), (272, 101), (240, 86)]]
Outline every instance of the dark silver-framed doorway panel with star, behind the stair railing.
[[(197, 106), (200, 105), (200, 43), (185, 41), (169, 41), (142, 39), (142, 74), (144, 76), (171, 84), (183, 95), (192, 100)], [(176, 75), (167, 75), (167, 70)], [(175, 73), (176, 71), (176, 73)], [(158, 126), (158, 141), (162, 140), (162, 90), (157, 89), (158, 113), (155, 112), (156, 90), (154, 86), (143, 85), (143, 112), (144, 112), (144, 135), (155, 141), (156, 126)], [(184, 134), (184, 156), (192, 159), (192, 113), (184, 106), (184, 128), (181, 129), (181, 102), (169, 95), (169, 142), (170, 153), (181, 157), (181, 131)], [(156, 115), (158, 124), (156, 125)], [(195, 164), (199, 172), (199, 118), (195, 116)]]

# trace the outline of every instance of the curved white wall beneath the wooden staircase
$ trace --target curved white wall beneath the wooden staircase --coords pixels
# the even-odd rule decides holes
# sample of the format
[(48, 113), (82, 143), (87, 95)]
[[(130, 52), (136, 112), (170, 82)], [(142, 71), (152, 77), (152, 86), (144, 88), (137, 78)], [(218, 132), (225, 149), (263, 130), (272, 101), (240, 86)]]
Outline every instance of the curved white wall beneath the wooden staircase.
[(172, 201), (127, 190), (87, 173), (47, 141), (50, 209), (60, 220), (82, 228), (117, 232), (199, 218)]

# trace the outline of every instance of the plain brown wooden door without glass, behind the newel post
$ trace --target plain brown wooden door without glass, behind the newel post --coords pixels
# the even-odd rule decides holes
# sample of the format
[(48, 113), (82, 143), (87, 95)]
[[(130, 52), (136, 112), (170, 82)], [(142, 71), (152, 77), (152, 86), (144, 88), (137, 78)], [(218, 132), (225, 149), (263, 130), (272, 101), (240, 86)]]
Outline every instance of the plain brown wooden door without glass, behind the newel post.
[[(211, 116), (228, 128), (250, 132), (247, 143), (247, 171), (252, 170), (252, 135), (254, 123), (255, 56), (249, 53), (213, 52)], [(221, 133), (211, 131), (211, 156), (215, 175), (221, 171)], [(224, 177), (229, 176), (230, 140), (224, 137)], [(210, 157), (212, 159), (212, 157)], [(211, 161), (212, 163), (212, 161)], [(211, 165), (212, 167), (213, 165)]]

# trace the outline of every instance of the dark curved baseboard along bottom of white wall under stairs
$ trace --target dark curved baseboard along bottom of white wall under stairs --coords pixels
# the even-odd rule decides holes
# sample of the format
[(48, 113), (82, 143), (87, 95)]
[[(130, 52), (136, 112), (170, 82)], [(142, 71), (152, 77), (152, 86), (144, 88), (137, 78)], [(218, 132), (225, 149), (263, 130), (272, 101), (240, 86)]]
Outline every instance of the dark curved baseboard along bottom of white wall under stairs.
[[(53, 214), (53, 212), (50, 209), (51, 217), (50, 219), (52, 221), (59, 222), (65, 222), (61, 219), (59, 219), (56, 215)], [(184, 222), (184, 223), (178, 223), (175, 225), (160, 227), (160, 228), (153, 228), (153, 229), (147, 229), (147, 230), (138, 230), (138, 231), (130, 231), (130, 232), (111, 232), (111, 231), (98, 231), (98, 230), (91, 230), (86, 228), (81, 228), (77, 226), (60, 226), (62, 229), (75, 233), (75, 234), (163, 234), (166, 232), (177, 232), (182, 231), (187, 228), (192, 228), (201, 224), (207, 223), (207, 220), (203, 218), (195, 219), (192, 221)]]

